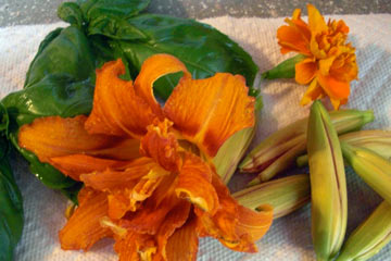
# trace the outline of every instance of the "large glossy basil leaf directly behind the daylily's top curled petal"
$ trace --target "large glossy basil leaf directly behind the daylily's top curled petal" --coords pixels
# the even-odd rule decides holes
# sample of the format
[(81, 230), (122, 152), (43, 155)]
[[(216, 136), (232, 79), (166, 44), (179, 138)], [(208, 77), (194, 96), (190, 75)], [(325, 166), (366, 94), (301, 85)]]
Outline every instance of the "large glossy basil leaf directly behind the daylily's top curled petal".
[[(235, 41), (217, 29), (193, 20), (156, 14), (142, 14), (127, 22), (141, 30), (147, 40), (111, 40), (124, 52), (135, 78), (142, 62), (156, 53), (169, 53), (182, 61), (193, 78), (206, 78), (217, 72), (243, 75), (248, 86), (253, 86), (257, 66), (252, 58)], [(177, 80), (165, 77), (155, 87), (156, 94), (167, 99)]]

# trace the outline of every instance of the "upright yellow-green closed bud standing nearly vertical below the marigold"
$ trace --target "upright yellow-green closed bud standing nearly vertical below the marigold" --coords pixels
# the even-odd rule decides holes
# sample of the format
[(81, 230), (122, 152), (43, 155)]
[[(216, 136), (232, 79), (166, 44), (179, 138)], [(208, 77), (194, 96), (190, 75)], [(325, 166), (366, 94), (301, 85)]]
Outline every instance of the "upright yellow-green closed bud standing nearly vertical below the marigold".
[(330, 260), (343, 243), (348, 197), (338, 134), (320, 101), (311, 107), (307, 151), (314, 248), (317, 260)]

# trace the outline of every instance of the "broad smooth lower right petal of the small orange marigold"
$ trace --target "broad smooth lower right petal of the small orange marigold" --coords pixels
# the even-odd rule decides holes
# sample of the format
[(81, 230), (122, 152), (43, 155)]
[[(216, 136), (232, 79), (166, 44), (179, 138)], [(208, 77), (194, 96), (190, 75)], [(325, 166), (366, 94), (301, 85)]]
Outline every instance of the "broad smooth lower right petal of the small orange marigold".
[(317, 76), (318, 83), (324, 91), (332, 99), (348, 99), (350, 85), (346, 82), (340, 82), (331, 76)]

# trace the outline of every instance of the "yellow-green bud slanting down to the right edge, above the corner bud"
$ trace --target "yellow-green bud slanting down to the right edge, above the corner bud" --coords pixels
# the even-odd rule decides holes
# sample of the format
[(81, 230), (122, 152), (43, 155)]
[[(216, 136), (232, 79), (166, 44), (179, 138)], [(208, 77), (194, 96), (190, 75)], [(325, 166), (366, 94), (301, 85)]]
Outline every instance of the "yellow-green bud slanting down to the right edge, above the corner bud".
[(377, 194), (391, 203), (391, 162), (376, 152), (341, 142), (343, 157)]

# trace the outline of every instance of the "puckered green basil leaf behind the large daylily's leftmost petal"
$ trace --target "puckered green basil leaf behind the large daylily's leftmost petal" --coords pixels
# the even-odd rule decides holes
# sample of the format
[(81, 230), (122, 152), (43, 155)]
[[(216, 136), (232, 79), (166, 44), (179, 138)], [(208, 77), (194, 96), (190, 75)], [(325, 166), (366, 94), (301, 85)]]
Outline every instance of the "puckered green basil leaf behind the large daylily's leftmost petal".
[(89, 40), (80, 29), (74, 26), (56, 29), (41, 44), (28, 70), (25, 88), (2, 100), (9, 111), (11, 142), (29, 162), (33, 174), (48, 187), (62, 189), (64, 194), (70, 191), (70, 197), (77, 183), (20, 148), (17, 133), (22, 125), (37, 117), (89, 113), (96, 62)]

